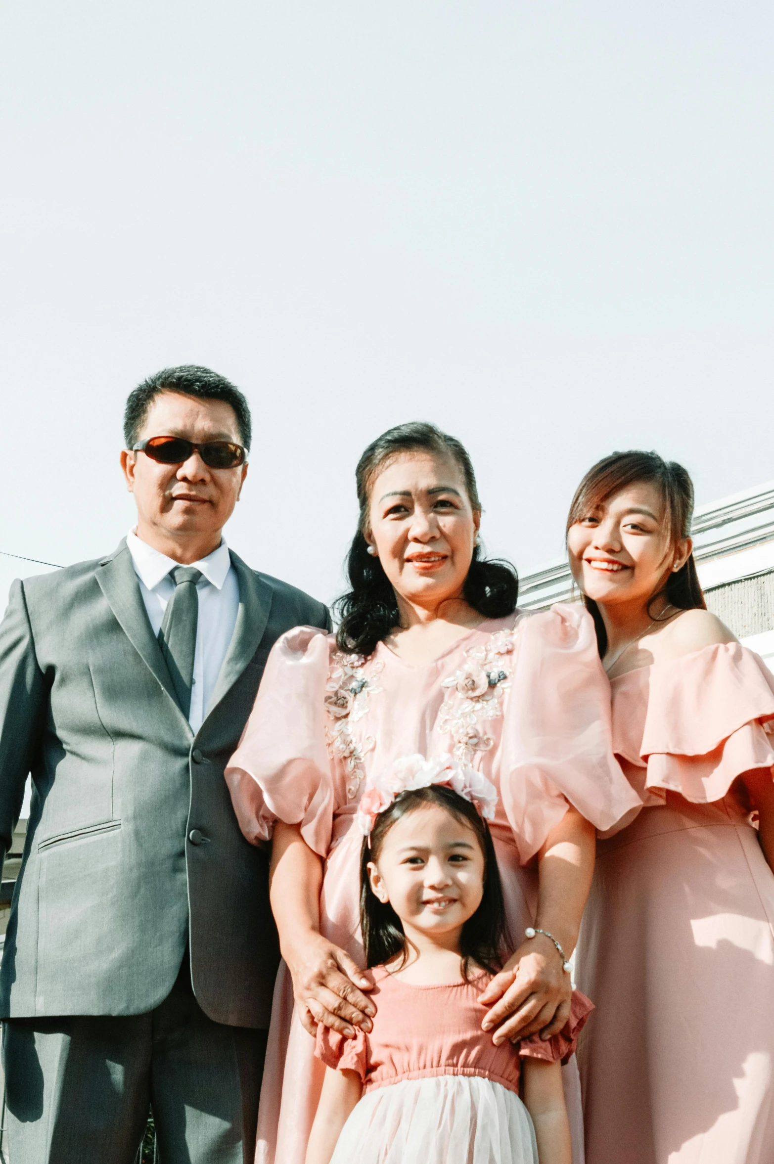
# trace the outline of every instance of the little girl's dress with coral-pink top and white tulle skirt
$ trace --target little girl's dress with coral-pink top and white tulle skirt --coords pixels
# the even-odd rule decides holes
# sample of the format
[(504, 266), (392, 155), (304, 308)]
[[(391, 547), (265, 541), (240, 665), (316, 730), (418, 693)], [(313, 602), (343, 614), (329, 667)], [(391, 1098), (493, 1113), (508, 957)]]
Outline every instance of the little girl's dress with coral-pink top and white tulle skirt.
[(372, 1031), (354, 1039), (317, 1032), (317, 1057), (363, 1083), (331, 1164), (538, 1164), (521, 1060), (568, 1059), (589, 1000), (575, 992), (563, 1030), (546, 1042), (533, 1035), (495, 1046), (478, 1002), (491, 974), (450, 986), (413, 986), (384, 966), (369, 975)]

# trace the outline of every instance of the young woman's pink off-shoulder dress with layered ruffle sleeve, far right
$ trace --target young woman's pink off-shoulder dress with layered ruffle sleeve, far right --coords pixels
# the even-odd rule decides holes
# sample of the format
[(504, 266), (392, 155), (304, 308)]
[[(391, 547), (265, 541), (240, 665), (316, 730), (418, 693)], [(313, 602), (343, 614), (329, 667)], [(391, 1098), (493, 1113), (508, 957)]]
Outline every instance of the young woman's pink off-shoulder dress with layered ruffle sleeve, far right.
[(733, 643), (611, 686), (646, 807), (598, 843), (576, 953), (597, 1007), (578, 1052), (587, 1159), (772, 1164), (774, 875), (734, 781), (774, 764), (774, 676)]

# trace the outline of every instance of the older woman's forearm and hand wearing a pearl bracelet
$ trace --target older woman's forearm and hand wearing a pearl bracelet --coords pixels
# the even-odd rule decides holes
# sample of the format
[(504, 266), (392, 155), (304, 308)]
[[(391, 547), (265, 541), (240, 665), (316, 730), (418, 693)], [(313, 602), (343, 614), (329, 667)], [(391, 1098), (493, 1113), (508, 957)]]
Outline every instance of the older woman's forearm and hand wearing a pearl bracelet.
[[(548, 833), (538, 858), (534, 924), (553, 934), (568, 958), (577, 942), (591, 887), (595, 850), (594, 825), (570, 804)], [(544, 1038), (551, 1038), (569, 1017), (571, 993), (570, 975), (562, 968), (558, 950), (538, 934), (519, 946), (481, 995), (481, 1001), (491, 1006), (483, 1029), (497, 1027), (496, 1043), (526, 1038), (537, 1030)]]

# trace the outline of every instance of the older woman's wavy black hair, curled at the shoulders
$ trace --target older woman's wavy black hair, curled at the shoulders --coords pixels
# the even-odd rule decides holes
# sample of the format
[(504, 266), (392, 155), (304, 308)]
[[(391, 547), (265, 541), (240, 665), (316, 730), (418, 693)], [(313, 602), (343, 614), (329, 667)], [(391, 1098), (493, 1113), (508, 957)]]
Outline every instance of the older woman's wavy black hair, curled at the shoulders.
[[(341, 651), (370, 655), (376, 644), (398, 625), (395, 590), (378, 558), (368, 553), (365, 531), (370, 490), (377, 473), (402, 453), (416, 450), (450, 456), (462, 473), (473, 509), (481, 512), (476, 475), (468, 450), (456, 436), (449, 436), (424, 421), (398, 425), (377, 436), (361, 456), (355, 470), (360, 520), (347, 555), (347, 576), (352, 589), (334, 603), (341, 619), (336, 634)], [(519, 594), (514, 567), (495, 559), (482, 561), (480, 555), (481, 551), (476, 546), (463, 589), (466, 602), (484, 618), (512, 615)]]

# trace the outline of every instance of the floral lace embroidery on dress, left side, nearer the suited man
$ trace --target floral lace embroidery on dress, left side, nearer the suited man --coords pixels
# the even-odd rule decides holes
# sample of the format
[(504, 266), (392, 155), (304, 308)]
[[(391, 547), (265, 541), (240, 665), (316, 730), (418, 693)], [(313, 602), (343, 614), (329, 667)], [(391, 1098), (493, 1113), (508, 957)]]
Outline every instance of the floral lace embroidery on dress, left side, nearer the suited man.
[(343, 761), (347, 769), (347, 796), (354, 800), (363, 779), (363, 759), (367, 752), (376, 746), (372, 736), (361, 739), (353, 734), (353, 724), (362, 719), (368, 711), (369, 696), (382, 690), (374, 680), (384, 669), (383, 662), (365, 665), (369, 660), (363, 655), (347, 654), (336, 651), (331, 660), (325, 709), (331, 725), (325, 729), (325, 738), (331, 754)]

